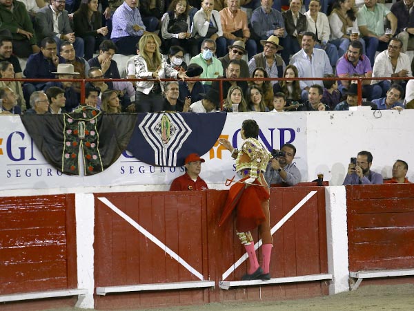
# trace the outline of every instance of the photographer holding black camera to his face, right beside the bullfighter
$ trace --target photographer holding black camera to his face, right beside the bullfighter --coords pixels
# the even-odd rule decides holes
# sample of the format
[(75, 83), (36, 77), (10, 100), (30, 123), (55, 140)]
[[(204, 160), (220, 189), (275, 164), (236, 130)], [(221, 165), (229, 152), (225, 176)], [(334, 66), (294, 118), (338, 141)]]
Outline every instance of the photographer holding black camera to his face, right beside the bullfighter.
[(295, 154), (296, 147), (293, 144), (284, 144), (280, 151), (272, 151), (273, 158), (264, 173), (264, 178), (270, 187), (272, 185), (294, 186), (300, 182), (302, 178), (300, 171), (295, 163), (292, 163)]

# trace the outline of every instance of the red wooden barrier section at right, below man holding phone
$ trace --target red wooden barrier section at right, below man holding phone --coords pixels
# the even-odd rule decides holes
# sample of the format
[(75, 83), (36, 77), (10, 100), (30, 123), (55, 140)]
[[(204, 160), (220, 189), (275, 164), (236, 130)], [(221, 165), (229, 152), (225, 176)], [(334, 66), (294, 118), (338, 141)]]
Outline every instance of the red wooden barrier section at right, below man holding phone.
[(346, 187), (349, 270), (414, 268), (414, 184)]

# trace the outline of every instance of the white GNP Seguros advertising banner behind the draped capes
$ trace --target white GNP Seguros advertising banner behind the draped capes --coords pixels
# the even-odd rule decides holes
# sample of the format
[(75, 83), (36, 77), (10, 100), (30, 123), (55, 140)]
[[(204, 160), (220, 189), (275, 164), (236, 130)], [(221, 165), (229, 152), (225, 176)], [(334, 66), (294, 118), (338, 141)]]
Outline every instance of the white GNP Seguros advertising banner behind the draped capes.
[[(221, 131), (233, 146), (239, 146), (240, 126), (246, 119), (254, 119), (260, 126), (259, 140), (269, 150), (279, 149), (285, 142), (297, 148), (294, 162), (308, 180), (306, 155), (305, 113), (228, 113)], [(0, 128), (0, 189), (68, 189), (73, 187), (105, 187), (122, 185), (169, 185), (184, 173), (183, 167), (155, 167), (134, 158), (128, 151), (111, 167), (94, 176), (67, 176), (46, 162), (34, 146), (20, 117), (1, 116)], [(206, 126), (203, 124), (203, 126)], [(234, 160), (230, 152), (218, 142), (202, 155), (206, 162), (201, 168), (201, 178), (210, 188), (223, 189), (226, 178), (235, 175)], [(168, 187), (164, 187), (168, 189)], [(158, 188), (159, 189), (159, 188)]]

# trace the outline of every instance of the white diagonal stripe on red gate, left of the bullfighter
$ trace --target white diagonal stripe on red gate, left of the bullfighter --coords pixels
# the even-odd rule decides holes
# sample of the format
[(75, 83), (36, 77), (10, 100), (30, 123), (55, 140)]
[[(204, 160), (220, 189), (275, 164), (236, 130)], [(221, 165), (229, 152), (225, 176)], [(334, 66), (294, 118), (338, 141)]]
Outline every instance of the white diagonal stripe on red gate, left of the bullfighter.
[(203, 274), (199, 273), (197, 270), (195, 270), (193, 267), (191, 267), (186, 261), (184, 261), (183, 258), (181, 258), (180, 256), (178, 256), (178, 254), (176, 254), (175, 252), (173, 252), (172, 249), (170, 249), (169, 247), (167, 247), (167, 245), (165, 245), (164, 243), (162, 243), (161, 241), (159, 241), (158, 238), (156, 238), (155, 236), (153, 236), (152, 234), (150, 234), (150, 232), (148, 232), (146, 229), (144, 229), (143, 227), (141, 227), (141, 225), (139, 225), (135, 220), (133, 220), (132, 218), (130, 218), (130, 216), (128, 216), (127, 214), (125, 214), (124, 211), (121, 211), (121, 209), (119, 209), (118, 207), (116, 207), (115, 205), (113, 205), (112, 202), (110, 202), (110, 200), (108, 200), (107, 198), (104, 198), (104, 197), (99, 197), (98, 200), (100, 200), (101, 202), (103, 202), (103, 204), (105, 204), (110, 209), (112, 209), (112, 211), (115, 211), (115, 213), (117, 213), (119, 216), (121, 216), (122, 218), (124, 218), (127, 223), (129, 223), (130, 225), (132, 225), (132, 227), (134, 227), (139, 232), (141, 232), (141, 234), (144, 234), (144, 236), (146, 236), (147, 238), (149, 238), (150, 241), (152, 241), (153, 243), (155, 243), (155, 245), (157, 245), (158, 247), (160, 247), (161, 249), (163, 249), (164, 252), (166, 252), (168, 255), (170, 255), (172, 258), (174, 258), (180, 265), (182, 265), (183, 267), (185, 267), (190, 273), (192, 273), (195, 276), (197, 276), (197, 278), (199, 278), (201, 281), (204, 281)]

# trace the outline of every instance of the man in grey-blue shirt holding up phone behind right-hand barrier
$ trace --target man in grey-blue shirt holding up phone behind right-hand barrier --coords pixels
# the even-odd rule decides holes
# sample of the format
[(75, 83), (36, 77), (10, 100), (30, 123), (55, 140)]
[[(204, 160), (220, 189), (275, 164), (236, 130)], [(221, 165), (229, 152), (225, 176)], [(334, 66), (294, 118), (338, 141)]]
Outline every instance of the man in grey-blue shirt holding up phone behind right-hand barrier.
[(382, 175), (371, 171), (373, 155), (369, 151), (359, 151), (357, 164), (348, 164), (348, 173), (342, 185), (382, 184)]

